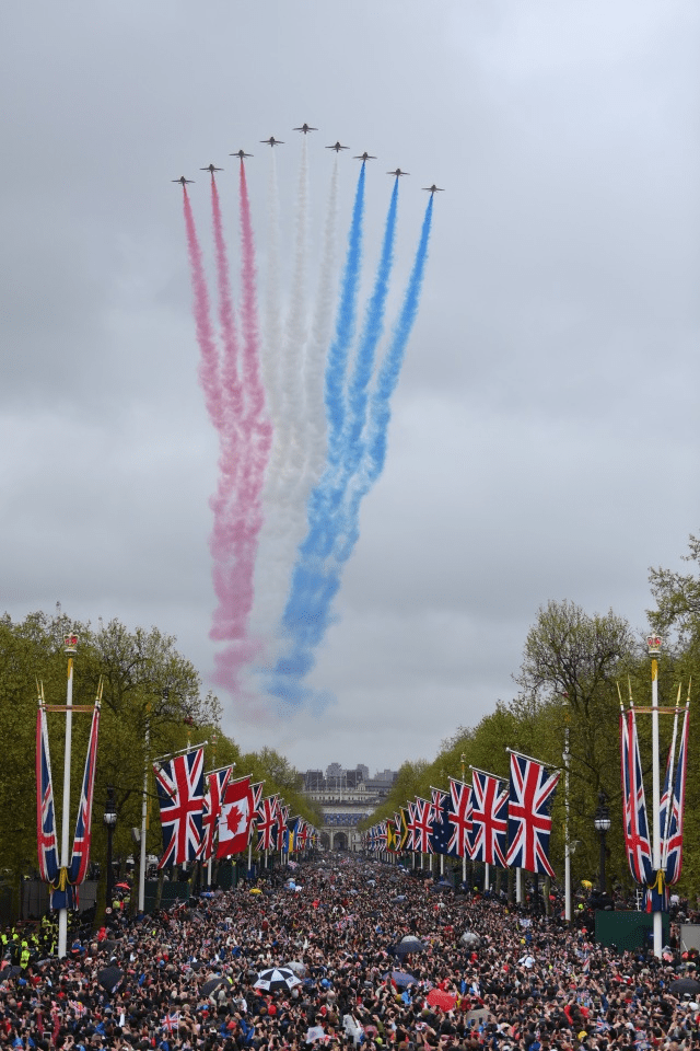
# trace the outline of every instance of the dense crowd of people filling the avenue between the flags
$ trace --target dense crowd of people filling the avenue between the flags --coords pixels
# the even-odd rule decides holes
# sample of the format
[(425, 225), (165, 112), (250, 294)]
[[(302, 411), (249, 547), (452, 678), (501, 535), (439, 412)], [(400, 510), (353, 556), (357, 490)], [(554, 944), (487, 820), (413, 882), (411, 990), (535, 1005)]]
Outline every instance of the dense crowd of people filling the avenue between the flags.
[(5, 951), (0, 1047), (700, 1051), (692, 960), (366, 858), (110, 923), (61, 960)]

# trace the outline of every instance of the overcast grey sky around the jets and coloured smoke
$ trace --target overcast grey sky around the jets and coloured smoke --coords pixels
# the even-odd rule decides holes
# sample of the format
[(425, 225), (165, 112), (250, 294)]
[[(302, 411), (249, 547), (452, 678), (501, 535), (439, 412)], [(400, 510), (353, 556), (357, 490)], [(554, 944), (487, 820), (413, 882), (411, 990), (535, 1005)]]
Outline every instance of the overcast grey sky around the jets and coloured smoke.
[[(210, 684), (218, 451), (171, 180), (197, 180), (210, 256), (198, 169), (226, 169), (233, 258), (229, 154), (255, 154), (262, 292), (259, 140), (283, 139), (289, 296), (302, 146), (291, 129), (307, 122), (319, 129), (307, 142), (310, 288), (335, 158), (325, 146), (378, 157), (369, 259), (384, 173), (411, 173), (397, 289), (421, 187), (446, 192), (386, 470), (310, 680), (332, 703), (253, 720), (218, 691), (224, 729), (301, 769), (430, 759), (513, 696), (548, 600), (612, 608), (643, 631), (649, 567), (680, 568), (700, 526), (699, 55), (696, 0), (5, 0), (1, 609), (21, 619), (59, 600), (79, 620), (158, 625)], [(338, 164), (340, 259), (358, 162)], [(267, 513), (260, 591), (276, 567)], [(252, 619), (268, 640), (272, 599), (257, 593)]]

